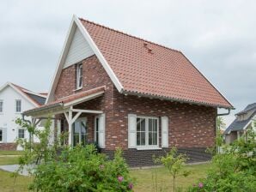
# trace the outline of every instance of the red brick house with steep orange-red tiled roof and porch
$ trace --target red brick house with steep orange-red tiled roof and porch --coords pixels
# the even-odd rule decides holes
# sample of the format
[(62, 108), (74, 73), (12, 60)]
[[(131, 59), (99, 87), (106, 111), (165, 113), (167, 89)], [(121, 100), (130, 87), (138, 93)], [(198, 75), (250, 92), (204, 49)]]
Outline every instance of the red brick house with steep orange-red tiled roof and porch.
[(122, 147), (143, 166), (174, 146), (209, 159), (217, 108), (233, 106), (182, 52), (74, 15), (46, 105), (24, 114), (53, 115), (70, 145), (96, 142), (110, 157)]

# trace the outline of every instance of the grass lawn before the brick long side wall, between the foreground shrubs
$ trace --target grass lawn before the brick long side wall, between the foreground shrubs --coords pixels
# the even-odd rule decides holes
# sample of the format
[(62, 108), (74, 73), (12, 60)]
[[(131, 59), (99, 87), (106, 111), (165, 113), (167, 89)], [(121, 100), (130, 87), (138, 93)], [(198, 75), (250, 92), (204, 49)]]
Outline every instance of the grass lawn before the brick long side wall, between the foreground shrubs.
[[(210, 167), (210, 164), (202, 165), (186, 165), (186, 170), (192, 171), (192, 174), (188, 177), (178, 177), (176, 187), (186, 189), (197, 181), (198, 178), (205, 177), (206, 171)], [(155, 173), (157, 181), (157, 191), (173, 191), (173, 179), (169, 175), (165, 168), (144, 169), (144, 170), (132, 170), (131, 177), (135, 177), (136, 192), (156, 191), (155, 187)], [(155, 189), (155, 190), (154, 190)]]

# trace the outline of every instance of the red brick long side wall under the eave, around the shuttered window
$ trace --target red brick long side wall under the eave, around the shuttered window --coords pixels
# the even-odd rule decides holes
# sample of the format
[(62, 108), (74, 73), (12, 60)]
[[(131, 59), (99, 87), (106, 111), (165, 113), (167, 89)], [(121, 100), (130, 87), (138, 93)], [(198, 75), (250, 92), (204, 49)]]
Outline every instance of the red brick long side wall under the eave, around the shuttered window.
[[(107, 129), (107, 147), (119, 143), (127, 148), (128, 114), (159, 117), (161, 144), (161, 117), (169, 119), (169, 144), (176, 147), (211, 147), (215, 141), (216, 109), (212, 107), (181, 104), (160, 99), (125, 96), (115, 90), (113, 127)], [(110, 136), (111, 135), (111, 136)]]

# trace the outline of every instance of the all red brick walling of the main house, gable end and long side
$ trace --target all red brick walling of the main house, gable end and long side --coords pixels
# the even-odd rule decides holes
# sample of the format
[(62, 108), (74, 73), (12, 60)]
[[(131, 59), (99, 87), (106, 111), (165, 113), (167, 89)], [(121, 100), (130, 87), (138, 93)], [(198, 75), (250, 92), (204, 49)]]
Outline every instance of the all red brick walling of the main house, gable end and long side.
[[(210, 147), (215, 138), (216, 109), (199, 105), (181, 104), (160, 99), (138, 98), (118, 93), (105, 69), (95, 56), (82, 62), (83, 87), (85, 91), (106, 85), (104, 96), (93, 99), (76, 108), (102, 110), (106, 113), (106, 149), (127, 149), (129, 113), (154, 117), (169, 117), (169, 144), (176, 147)], [(63, 69), (55, 98), (73, 93), (75, 89), (75, 66)], [(79, 91), (79, 92), (80, 92)], [(88, 116), (89, 133), (94, 134), (94, 116)], [(161, 137), (161, 121), (160, 137)], [(90, 137), (91, 139), (93, 136)], [(159, 143), (161, 144), (161, 138)]]

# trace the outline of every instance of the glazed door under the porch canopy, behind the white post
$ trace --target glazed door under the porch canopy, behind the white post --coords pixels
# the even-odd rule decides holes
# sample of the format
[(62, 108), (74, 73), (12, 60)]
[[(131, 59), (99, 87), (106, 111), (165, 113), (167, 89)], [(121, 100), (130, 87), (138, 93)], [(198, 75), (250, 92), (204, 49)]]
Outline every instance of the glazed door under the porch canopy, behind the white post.
[(78, 118), (73, 124), (73, 147), (77, 144), (84, 146), (88, 143), (88, 127), (86, 117)]

